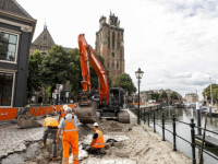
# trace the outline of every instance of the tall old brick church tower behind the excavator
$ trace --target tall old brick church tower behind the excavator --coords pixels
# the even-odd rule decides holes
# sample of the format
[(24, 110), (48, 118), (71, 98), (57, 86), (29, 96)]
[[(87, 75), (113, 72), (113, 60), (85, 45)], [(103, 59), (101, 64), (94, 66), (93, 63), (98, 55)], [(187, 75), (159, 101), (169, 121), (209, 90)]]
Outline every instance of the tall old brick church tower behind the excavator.
[(124, 28), (120, 27), (120, 20), (110, 13), (108, 23), (105, 16), (99, 20), (99, 31), (96, 33), (96, 54), (105, 59), (112, 82), (124, 73)]

